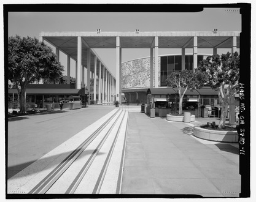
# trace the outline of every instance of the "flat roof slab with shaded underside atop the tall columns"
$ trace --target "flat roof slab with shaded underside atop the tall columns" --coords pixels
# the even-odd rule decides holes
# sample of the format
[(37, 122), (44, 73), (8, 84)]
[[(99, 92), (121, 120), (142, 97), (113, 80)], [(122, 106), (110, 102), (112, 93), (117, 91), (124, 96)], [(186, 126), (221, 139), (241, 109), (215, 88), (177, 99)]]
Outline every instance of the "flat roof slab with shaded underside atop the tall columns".
[[(88, 48), (116, 48), (116, 37), (120, 37), (121, 48), (153, 48), (155, 37), (158, 37), (158, 48), (193, 48), (193, 37), (197, 37), (198, 48), (231, 48), (233, 37), (236, 37), (236, 47), (240, 47), (240, 32), (40, 32), (42, 39), (75, 61), (78, 36), (82, 41), (82, 65), (85, 66)], [(93, 62), (91, 59), (92, 72)]]

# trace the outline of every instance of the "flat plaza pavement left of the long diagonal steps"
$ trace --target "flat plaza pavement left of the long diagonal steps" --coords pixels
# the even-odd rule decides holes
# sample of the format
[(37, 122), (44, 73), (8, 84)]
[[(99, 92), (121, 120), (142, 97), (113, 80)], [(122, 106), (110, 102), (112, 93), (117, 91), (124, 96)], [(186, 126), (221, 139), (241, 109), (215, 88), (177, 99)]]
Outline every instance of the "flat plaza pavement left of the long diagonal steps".
[(80, 110), (55, 110), (52, 113), (10, 118), (7, 178), (14, 176), (113, 109), (113, 105), (90, 105)]

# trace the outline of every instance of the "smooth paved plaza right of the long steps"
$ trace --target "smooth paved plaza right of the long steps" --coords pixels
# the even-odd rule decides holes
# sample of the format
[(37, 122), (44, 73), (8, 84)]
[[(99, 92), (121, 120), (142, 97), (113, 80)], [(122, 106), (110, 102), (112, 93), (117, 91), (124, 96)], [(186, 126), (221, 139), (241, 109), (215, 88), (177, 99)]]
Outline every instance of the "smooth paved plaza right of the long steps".
[(238, 144), (192, 135), (213, 118), (185, 124), (130, 111), (122, 193), (239, 196)]

